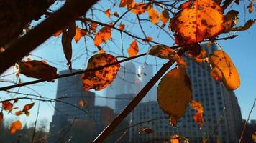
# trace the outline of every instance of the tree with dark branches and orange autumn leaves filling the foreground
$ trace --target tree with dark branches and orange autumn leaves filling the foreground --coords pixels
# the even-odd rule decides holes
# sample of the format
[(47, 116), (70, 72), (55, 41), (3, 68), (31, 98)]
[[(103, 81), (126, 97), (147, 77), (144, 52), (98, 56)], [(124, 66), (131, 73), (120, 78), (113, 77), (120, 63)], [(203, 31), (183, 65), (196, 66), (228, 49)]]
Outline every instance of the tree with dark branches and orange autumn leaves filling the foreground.
[[(1, 2), (2, 4), (6, 4), (6, 6), (12, 7), (12, 9), (17, 8), (17, 5), (19, 4), (17, 1), (10, 3), (7, 3), (6, 1)], [(16, 26), (15, 28), (17, 29), (13, 29), (14, 32), (11, 33), (6, 33), (7, 25), (5, 27), (3, 26), (3, 30), (1, 31), (4, 32), (1, 32), (1, 37), (3, 37), (4, 40), (1, 42), (1, 46), (4, 47), (2, 48), (3, 52), (0, 55), (1, 73), (8, 69), (9, 66), (17, 63), (19, 74), (24, 74), (27, 77), (34, 77), (38, 80), (14, 84), (9, 87), (2, 87), (0, 88), (1, 90), (8, 90), (14, 87), (21, 87), (38, 82), (50, 82), (54, 79), (69, 77), (75, 74), (82, 74), (81, 80), (84, 90), (101, 90), (108, 87), (115, 79), (116, 74), (119, 71), (120, 63), (124, 61), (137, 59), (147, 55), (168, 59), (168, 62), (163, 64), (150, 82), (148, 82), (137, 96), (134, 97), (124, 111), (119, 114), (119, 116), (116, 117), (103, 132), (101, 132), (94, 142), (103, 142), (114, 128), (122, 122), (124, 117), (126, 117), (129, 112), (132, 112), (132, 109), (136, 107), (151, 87), (163, 77), (165, 72), (168, 71), (173, 64), (178, 65), (171, 69), (168, 74), (165, 74), (160, 81), (157, 92), (159, 105), (163, 109), (163, 112), (170, 116), (170, 122), (175, 126), (178, 119), (186, 112), (186, 106), (189, 104), (193, 109), (196, 109), (197, 113), (195, 114), (194, 119), (199, 127), (201, 127), (201, 124), (204, 123), (204, 118), (202, 116), (204, 112), (203, 107), (200, 102), (193, 100), (190, 79), (186, 74), (186, 61), (183, 60), (183, 55), (188, 56), (188, 58), (194, 60), (198, 64), (211, 65), (211, 76), (214, 79), (223, 82), (227, 89), (234, 90), (239, 87), (239, 74), (228, 54), (223, 50), (218, 50), (214, 51), (211, 55), (207, 55), (206, 51), (201, 49), (200, 46), (201, 42), (207, 41), (216, 43), (216, 41), (219, 40), (233, 39), (236, 37), (236, 35), (232, 33), (233, 31), (244, 31), (254, 24), (255, 19), (249, 19), (244, 26), (236, 26), (238, 12), (234, 10), (225, 11), (227, 7), (232, 4), (232, 0), (196, 0), (186, 2), (154, 0), (139, 2), (133, 0), (121, 0), (118, 1), (118, 3), (116, 3), (116, 1), (109, 1), (114, 8), (110, 8), (109, 6), (109, 9), (104, 9), (104, 11), (97, 6), (92, 6), (93, 4), (96, 4), (96, 0), (73, 0), (65, 1), (64, 6), (58, 11), (46, 11), (53, 2), (55, 1), (42, 0), (40, 1), (40, 4), (37, 4), (33, 0), (27, 0), (27, 5), (22, 6), (24, 9), (17, 11), (17, 15), (22, 19), (22, 16), (24, 16), (22, 14), (31, 14), (28, 16), (29, 18), (24, 21), (14, 21), (13, 23), (18, 26)], [(235, 1), (235, 3), (239, 4), (239, 1)], [(30, 11), (29, 6), (40, 9), (32, 9), (35, 10), (35, 12)], [(248, 4), (250, 13), (253, 11), (252, 7), (253, 1)], [(83, 14), (89, 9), (91, 12), (84, 16)], [(115, 9), (121, 10), (115, 11)], [(124, 9), (125, 11), (122, 12)], [(9, 10), (4, 10), (4, 12), (4, 16), (8, 16)], [(99, 21), (94, 14), (101, 14), (102, 16), (102, 12), (106, 14), (106, 19)], [(41, 24), (38, 24), (35, 28), (27, 26), (29, 21), (38, 19), (38, 16), (42, 14), (47, 16), (47, 18), (42, 21)], [(14, 19), (14, 16), (10, 17)], [(137, 19), (137, 22), (132, 23), (129, 21), (129, 18), (131, 17)], [(109, 21), (108, 18), (111, 22), (107, 22)], [(12, 22), (6, 21), (6, 18), (3, 19), (5, 20), (2, 21), (3, 24)], [(81, 22), (81, 24), (78, 24), (78, 22)], [(134, 24), (137, 29), (140, 29), (142, 32), (141, 35), (133, 34), (132, 30), (127, 28), (132, 24)], [(148, 25), (153, 26), (153, 29), (164, 31), (165, 36), (169, 36), (169, 39), (174, 40), (175, 46), (170, 46), (173, 43), (170, 44), (168, 42), (162, 43), (155, 41), (155, 39), (160, 37), (155, 34), (152, 34), (151, 36), (150, 31), (144, 27)], [(24, 27), (28, 32), (17, 39), (22, 32), (21, 27)], [(29, 51), (35, 49), (36, 46), (42, 44), (42, 42), (50, 36), (54, 35), (58, 37), (60, 34), (62, 34), (61, 42), (70, 71), (72, 71), (73, 39), (78, 42), (81, 37), (86, 37), (87, 39), (91, 39), (94, 46), (99, 49), (99, 51), (97, 51), (99, 54), (95, 54), (89, 59), (86, 70), (58, 75), (58, 69), (50, 66), (45, 61), (30, 59), (27, 61), (19, 61), (22, 57), (26, 56)], [(116, 36), (116, 34), (120, 34), (120, 36)], [(104, 50), (104, 45), (110, 41), (114, 44), (115, 41), (121, 41), (120, 46), (122, 46), (123, 49), (124, 34), (132, 38), (129, 48), (127, 49), (129, 57), (122, 55), (122, 58), (124, 59), (118, 60), (117, 58), (120, 58), (120, 56), (114, 56), (114, 50)], [(230, 34), (232, 34), (232, 36), (230, 36)], [(35, 39), (35, 37), (37, 37), (37, 39)], [(147, 50), (143, 54), (138, 54), (140, 46), (150, 47), (150, 50)], [(123, 50), (122, 52), (124, 53)], [(86, 54), (88, 53), (89, 50), (86, 46)], [(11, 56), (12, 58), (10, 58)], [(14, 110), (13, 106), (18, 99), (58, 102), (56, 99), (41, 99), (41, 97), (17, 97), (1, 101), (2, 108), (7, 112), (12, 112), (12, 110)], [(20, 114), (29, 115), (29, 109), (31, 109), (33, 105), (33, 103), (26, 104), (22, 110), (17, 111), (15, 114), (17, 116)], [(3, 118), (3, 115), (4, 114), (1, 112), (1, 118)], [(18, 129), (19, 128), (17, 128), (17, 130)]]

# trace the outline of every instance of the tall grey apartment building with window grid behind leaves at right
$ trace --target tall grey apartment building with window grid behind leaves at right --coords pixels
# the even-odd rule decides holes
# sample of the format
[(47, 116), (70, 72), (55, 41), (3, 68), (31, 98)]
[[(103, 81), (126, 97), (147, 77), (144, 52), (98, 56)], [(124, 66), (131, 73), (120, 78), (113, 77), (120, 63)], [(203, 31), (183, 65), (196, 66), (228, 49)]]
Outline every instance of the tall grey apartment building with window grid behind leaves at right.
[[(208, 53), (216, 50), (216, 46), (206, 47)], [(177, 128), (170, 126), (167, 115), (163, 113), (157, 102), (140, 103), (133, 113), (133, 124), (149, 119), (157, 119), (134, 127), (129, 131), (130, 142), (145, 142), (153, 139), (152, 134), (137, 134), (141, 127), (155, 130), (156, 137), (166, 139), (171, 134), (180, 134), (189, 142), (202, 142), (209, 137), (209, 142), (233, 143), (238, 141), (242, 127), (242, 115), (234, 92), (230, 92), (224, 84), (211, 78), (209, 71), (198, 66), (194, 61), (188, 62), (187, 73), (191, 79), (193, 99), (201, 102), (204, 107), (204, 125), (202, 129), (193, 121), (195, 111), (188, 107), (186, 114), (180, 119)], [(225, 108), (225, 109), (224, 109)], [(221, 117), (223, 116), (223, 117)], [(220, 120), (220, 122), (219, 122)], [(218, 127), (216, 128), (216, 126)]]

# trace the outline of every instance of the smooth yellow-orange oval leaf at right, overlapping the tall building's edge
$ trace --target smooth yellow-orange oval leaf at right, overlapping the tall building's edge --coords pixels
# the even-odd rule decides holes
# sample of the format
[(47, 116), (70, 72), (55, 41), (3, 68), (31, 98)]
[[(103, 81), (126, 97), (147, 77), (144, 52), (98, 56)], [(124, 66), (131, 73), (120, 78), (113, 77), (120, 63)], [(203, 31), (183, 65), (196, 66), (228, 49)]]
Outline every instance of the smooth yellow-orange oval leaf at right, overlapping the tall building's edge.
[[(209, 63), (214, 70), (219, 69), (221, 71), (221, 79), (227, 89), (234, 90), (239, 87), (239, 74), (227, 53), (224, 51), (214, 51), (214, 53), (209, 56)], [(217, 73), (219, 73), (219, 71), (217, 71)]]

